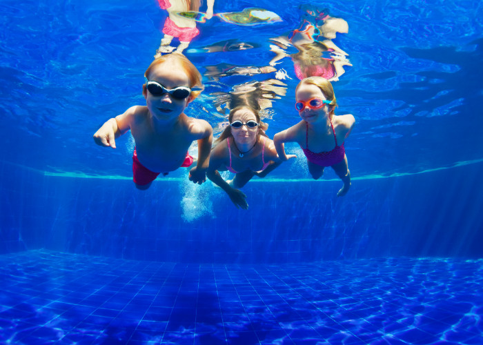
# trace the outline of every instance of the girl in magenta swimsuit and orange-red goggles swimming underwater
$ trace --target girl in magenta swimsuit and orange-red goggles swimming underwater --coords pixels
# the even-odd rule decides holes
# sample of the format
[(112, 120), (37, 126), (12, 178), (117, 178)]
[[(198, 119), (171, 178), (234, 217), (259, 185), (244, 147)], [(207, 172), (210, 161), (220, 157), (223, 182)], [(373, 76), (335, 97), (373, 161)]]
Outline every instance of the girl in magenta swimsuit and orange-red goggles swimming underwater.
[(334, 114), (337, 106), (334, 89), (322, 77), (310, 77), (300, 81), (295, 96), (295, 108), (302, 121), (273, 137), (279, 158), (282, 161), (288, 159), (284, 143), (297, 142), (307, 157), (308, 171), (314, 179), (319, 179), (324, 174), (326, 166), (333, 168), (344, 182), (344, 186), (337, 193), (337, 196), (342, 197), (351, 188), (344, 139), (351, 133), (355, 119), (351, 114)]

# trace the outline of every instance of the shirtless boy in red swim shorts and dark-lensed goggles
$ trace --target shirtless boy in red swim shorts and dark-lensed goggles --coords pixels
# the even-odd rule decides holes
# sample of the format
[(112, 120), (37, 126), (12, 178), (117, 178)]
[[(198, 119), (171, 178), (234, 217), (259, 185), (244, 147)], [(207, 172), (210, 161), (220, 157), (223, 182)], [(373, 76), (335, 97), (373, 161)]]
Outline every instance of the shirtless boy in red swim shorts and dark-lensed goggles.
[(131, 130), (135, 139), (132, 156), (134, 182), (146, 189), (159, 173), (166, 175), (180, 166), (191, 166), (188, 148), (198, 141), (197, 166), (189, 179), (206, 181), (213, 130), (208, 122), (184, 114), (188, 103), (201, 93), (201, 75), (186, 57), (165, 55), (152, 61), (144, 74), (143, 95), (146, 106), (133, 106), (124, 114), (109, 119), (95, 132), (100, 146), (116, 148), (115, 138)]

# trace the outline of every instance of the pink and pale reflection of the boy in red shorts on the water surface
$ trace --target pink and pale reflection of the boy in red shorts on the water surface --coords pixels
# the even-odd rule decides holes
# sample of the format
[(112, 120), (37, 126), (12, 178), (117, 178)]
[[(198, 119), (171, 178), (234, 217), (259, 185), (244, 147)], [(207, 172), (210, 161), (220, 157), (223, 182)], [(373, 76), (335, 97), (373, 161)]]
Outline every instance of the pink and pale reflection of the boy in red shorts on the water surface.
[[(190, 41), (199, 34), (196, 27), (196, 21), (186, 17), (177, 16), (177, 12), (187, 12), (199, 10), (201, 0), (158, 0), (159, 7), (168, 11), (168, 18), (164, 22), (163, 33), (164, 37), (161, 39), (161, 44), (156, 50), (155, 57), (160, 57), (161, 53), (169, 53), (175, 50), (175, 47), (170, 46), (174, 37), (179, 39), (179, 46), (175, 52), (183, 52)], [(208, 0), (206, 10), (206, 19), (213, 17), (213, 5), (215, 0)]]

